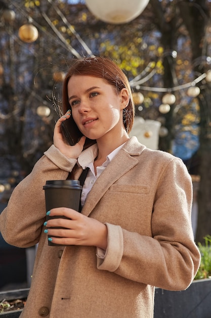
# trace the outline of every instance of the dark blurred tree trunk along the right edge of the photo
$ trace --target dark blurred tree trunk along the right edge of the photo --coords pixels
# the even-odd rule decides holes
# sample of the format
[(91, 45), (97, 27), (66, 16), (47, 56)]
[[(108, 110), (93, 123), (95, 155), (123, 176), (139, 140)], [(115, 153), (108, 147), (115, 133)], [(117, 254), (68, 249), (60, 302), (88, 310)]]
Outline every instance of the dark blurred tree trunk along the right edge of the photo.
[[(193, 71), (202, 74), (210, 65), (210, 10), (205, 0), (193, 3), (186, 1), (178, 4), (184, 24), (191, 39)], [(198, 192), (198, 224), (196, 241), (203, 242), (203, 238), (210, 234), (211, 229), (211, 86), (209, 82), (200, 85), (201, 93), (198, 97), (200, 106), (200, 185)]]

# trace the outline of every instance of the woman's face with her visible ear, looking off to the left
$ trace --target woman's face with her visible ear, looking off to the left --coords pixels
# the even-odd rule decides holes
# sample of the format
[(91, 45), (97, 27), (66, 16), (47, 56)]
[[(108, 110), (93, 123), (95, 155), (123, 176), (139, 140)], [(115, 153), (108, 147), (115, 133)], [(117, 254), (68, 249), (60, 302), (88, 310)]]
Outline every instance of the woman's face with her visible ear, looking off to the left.
[(90, 139), (114, 138), (124, 130), (122, 109), (128, 101), (126, 88), (117, 94), (104, 79), (85, 75), (73, 75), (67, 88), (73, 119), (83, 135)]

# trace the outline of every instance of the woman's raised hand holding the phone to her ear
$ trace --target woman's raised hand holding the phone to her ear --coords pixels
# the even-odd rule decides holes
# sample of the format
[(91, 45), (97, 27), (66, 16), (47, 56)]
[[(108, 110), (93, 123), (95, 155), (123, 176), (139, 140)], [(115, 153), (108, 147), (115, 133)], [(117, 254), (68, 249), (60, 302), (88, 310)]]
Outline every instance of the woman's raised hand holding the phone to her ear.
[(83, 150), (83, 145), (85, 144), (86, 137), (82, 136), (77, 144), (70, 146), (62, 134), (62, 122), (71, 116), (70, 110), (66, 112), (65, 115), (60, 117), (55, 124), (54, 128), (54, 145), (68, 158), (77, 159), (81, 151)]

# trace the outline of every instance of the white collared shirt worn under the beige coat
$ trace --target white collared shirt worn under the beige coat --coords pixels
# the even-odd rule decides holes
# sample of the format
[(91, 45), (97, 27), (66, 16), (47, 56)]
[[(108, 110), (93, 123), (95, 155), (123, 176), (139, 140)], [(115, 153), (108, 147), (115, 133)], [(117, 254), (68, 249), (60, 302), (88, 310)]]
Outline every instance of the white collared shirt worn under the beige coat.
[(88, 149), (81, 152), (81, 154), (78, 156), (77, 163), (79, 166), (81, 166), (83, 169), (86, 169), (87, 167), (90, 168), (87, 178), (85, 180), (85, 183), (83, 184), (82, 193), (81, 193), (81, 206), (85, 204), (85, 200), (87, 198), (87, 195), (89, 194), (90, 190), (93, 187), (93, 184), (97, 180), (97, 178), (101, 175), (101, 173), (105, 170), (105, 168), (108, 166), (108, 164), (111, 162), (113, 157), (117, 154), (117, 152), (122, 148), (122, 145), (114, 149), (111, 153), (109, 153), (106, 157), (106, 161), (102, 164), (102, 166), (97, 167), (97, 174), (95, 174), (94, 169), (94, 160), (97, 157), (98, 154), (98, 146), (97, 144), (92, 145)]

